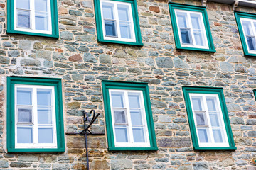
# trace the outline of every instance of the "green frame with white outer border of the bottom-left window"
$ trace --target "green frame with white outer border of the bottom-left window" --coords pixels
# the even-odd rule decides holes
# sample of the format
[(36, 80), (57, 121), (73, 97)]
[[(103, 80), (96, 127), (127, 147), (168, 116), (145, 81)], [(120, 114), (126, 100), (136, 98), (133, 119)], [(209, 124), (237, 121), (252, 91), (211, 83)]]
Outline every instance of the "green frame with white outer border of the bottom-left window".
[[(16, 86), (46, 86), (54, 89), (55, 147), (16, 147)], [(53, 115), (54, 117), (54, 115)], [(61, 79), (38, 77), (7, 77), (7, 151), (8, 152), (65, 152), (63, 100)]]

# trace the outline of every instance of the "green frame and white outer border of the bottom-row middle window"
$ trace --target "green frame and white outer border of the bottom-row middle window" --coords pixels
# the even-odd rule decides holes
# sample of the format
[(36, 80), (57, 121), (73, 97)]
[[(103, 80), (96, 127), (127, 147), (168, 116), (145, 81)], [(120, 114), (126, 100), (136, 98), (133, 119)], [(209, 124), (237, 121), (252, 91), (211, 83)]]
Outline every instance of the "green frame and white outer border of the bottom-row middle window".
[[(112, 95), (111, 91), (117, 91), (116, 93), (122, 93), (123, 91), (136, 91), (136, 93), (140, 93), (142, 96), (142, 102), (140, 102), (141, 107), (143, 108), (141, 116), (146, 120), (144, 125), (147, 132), (145, 132), (146, 136), (148, 137), (147, 146), (144, 147), (142, 145), (137, 145), (135, 142), (129, 142), (127, 140), (126, 143), (122, 143), (122, 146), (118, 146), (117, 142), (115, 142), (114, 138), (114, 128), (113, 128), (113, 120), (115, 119), (114, 115), (112, 115), (112, 105), (110, 101), (110, 96)], [(104, 100), (104, 107), (105, 107), (105, 119), (106, 119), (106, 128), (107, 128), (107, 141), (108, 141), (108, 149), (111, 151), (114, 150), (158, 150), (156, 145), (156, 135), (154, 132), (154, 121), (151, 112), (151, 103), (149, 98), (149, 87), (147, 83), (138, 83), (138, 82), (122, 82), (122, 81), (102, 81), (102, 93), (103, 93), (103, 100)], [(129, 92), (127, 92), (129, 93)], [(111, 99), (112, 100), (112, 99)], [(125, 100), (125, 97), (124, 97)], [(143, 102), (144, 101), (144, 102)], [(144, 103), (144, 104), (143, 104)], [(131, 105), (129, 105), (131, 106)], [(127, 107), (129, 107), (127, 106)], [(130, 109), (130, 108), (129, 108)], [(128, 115), (128, 108), (127, 108), (127, 115)], [(126, 117), (129, 119), (129, 116)], [(116, 121), (116, 120), (114, 120)], [(117, 122), (115, 122), (117, 123)], [(130, 125), (134, 125), (131, 123)], [(129, 125), (127, 125), (129, 126)], [(134, 127), (133, 127), (134, 128)], [(132, 134), (134, 134), (132, 132)], [(128, 134), (129, 135), (129, 134)], [(145, 135), (144, 135), (145, 136)], [(146, 138), (144, 138), (146, 139)], [(127, 144), (127, 145), (124, 145)], [(131, 144), (134, 144), (131, 147)], [(135, 146), (137, 145), (137, 146)]]

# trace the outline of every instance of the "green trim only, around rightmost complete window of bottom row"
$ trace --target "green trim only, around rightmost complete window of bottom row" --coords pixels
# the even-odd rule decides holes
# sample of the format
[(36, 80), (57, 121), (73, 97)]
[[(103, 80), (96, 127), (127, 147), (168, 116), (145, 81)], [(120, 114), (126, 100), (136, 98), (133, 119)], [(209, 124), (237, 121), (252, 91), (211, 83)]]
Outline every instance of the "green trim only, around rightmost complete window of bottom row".
[[(230, 126), (230, 120), (228, 117), (228, 110), (225, 104), (225, 97), (223, 94), (222, 88), (214, 88), (214, 87), (202, 87), (202, 86), (182, 86), (183, 95), (186, 104), (186, 111), (188, 113), (188, 123), (189, 128), (191, 130), (191, 138), (193, 142), (194, 150), (235, 150), (235, 142), (233, 139), (232, 129)], [(196, 123), (193, 119), (193, 112), (191, 108), (191, 101), (189, 98), (189, 94), (218, 94), (220, 99), (220, 108), (223, 113), (223, 120), (225, 124), (226, 133), (228, 136), (228, 143), (230, 147), (199, 147), (198, 138), (196, 135)]]

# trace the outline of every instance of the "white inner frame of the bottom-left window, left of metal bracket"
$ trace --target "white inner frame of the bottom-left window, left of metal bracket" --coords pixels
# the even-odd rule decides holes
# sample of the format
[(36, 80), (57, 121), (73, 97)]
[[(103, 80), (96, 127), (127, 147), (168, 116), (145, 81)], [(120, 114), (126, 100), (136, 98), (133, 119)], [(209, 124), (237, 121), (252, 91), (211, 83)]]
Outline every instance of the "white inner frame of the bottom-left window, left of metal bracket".
[[(17, 142), (17, 88), (29, 88), (32, 89), (32, 96), (31, 96), (31, 106), (32, 109), (32, 134), (33, 134), (33, 143), (18, 143)], [(38, 111), (37, 111), (37, 89), (51, 89), (51, 110), (52, 110), (52, 127), (53, 127), (53, 143), (38, 143)], [(14, 96), (15, 96), (15, 148), (57, 148), (57, 131), (56, 131), (56, 113), (55, 113), (55, 90), (54, 86), (36, 86), (36, 85), (22, 85), (22, 84), (15, 84), (14, 86)], [(50, 124), (46, 125), (47, 128)], [(44, 127), (44, 126), (40, 126)]]

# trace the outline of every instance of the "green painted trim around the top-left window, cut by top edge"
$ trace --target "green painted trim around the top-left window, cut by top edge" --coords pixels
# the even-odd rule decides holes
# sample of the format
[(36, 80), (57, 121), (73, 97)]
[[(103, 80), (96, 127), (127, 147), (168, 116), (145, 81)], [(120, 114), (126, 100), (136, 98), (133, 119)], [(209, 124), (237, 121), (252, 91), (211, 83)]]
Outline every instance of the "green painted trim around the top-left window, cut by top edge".
[(14, 30), (14, 1), (15, 0), (7, 1), (7, 30), (6, 30), (6, 33), (59, 38), (57, 0), (50, 0), (51, 27), (52, 27), (51, 34), (33, 33), (33, 32)]

